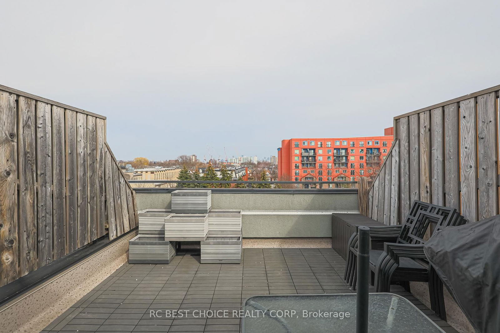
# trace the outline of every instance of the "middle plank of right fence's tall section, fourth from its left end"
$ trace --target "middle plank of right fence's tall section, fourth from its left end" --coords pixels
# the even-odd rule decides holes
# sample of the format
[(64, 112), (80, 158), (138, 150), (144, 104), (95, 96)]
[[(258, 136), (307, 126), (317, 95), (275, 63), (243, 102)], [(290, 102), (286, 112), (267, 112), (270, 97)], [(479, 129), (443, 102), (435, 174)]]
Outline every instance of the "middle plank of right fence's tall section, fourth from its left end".
[(444, 121), (442, 107), (430, 110), (430, 198), (444, 205)]

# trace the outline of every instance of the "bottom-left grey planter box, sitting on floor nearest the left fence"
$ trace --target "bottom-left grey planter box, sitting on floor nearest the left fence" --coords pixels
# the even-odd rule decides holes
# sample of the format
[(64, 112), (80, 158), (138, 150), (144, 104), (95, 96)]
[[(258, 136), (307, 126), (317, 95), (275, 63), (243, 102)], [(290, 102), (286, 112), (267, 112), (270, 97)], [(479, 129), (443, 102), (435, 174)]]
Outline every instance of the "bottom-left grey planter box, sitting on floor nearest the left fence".
[(175, 242), (161, 235), (139, 234), (128, 241), (128, 263), (170, 263)]

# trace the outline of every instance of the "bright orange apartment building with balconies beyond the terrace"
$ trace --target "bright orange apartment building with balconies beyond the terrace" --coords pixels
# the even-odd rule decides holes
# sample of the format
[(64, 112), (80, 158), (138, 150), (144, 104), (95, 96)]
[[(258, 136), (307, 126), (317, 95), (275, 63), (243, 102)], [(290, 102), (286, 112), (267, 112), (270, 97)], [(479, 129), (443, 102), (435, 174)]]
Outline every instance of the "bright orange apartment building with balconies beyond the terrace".
[(385, 128), (384, 134), (282, 140), (278, 148), (278, 177), (313, 182), (357, 180), (360, 175), (374, 175), (390, 149), (393, 128)]

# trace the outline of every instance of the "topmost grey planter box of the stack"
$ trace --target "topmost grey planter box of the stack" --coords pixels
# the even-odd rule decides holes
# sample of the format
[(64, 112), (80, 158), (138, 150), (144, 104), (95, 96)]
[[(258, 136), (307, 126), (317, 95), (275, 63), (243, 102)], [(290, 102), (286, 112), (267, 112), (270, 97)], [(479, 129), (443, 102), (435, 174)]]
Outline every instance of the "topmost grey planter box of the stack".
[(207, 213), (212, 206), (209, 189), (177, 189), (172, 192), (172, 213)]

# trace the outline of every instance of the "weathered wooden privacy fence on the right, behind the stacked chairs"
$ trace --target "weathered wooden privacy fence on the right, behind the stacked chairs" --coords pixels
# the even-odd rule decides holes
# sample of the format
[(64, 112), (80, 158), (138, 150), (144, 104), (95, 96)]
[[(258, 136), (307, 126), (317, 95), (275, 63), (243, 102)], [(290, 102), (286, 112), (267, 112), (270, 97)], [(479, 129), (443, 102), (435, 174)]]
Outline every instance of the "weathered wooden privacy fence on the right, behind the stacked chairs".
[[(388, 197), (398, 203), (399, 221), (415, 199), (455, 207), (469, 222), (498, 214), (499, 90), (497, 85), (394, 117), (398, 190)], [(369, 195), (371, 216), (385, 223), (382, 178), (380, 171)], [(384, 183), (383, 209), (386, 191)]]

